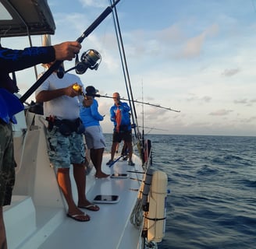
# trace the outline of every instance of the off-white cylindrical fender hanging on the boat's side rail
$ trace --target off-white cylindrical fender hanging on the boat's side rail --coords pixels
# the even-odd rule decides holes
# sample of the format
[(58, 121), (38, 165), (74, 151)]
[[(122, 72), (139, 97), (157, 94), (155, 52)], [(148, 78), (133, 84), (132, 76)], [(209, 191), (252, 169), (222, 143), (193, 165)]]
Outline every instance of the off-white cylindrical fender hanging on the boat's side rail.
[(156, 170), (151, 181), (151, 190), (148, 196), (149, 210), (146, 218), (148, 223), (148, 241), (161, 242), (165, 236), (167, 195), (167, 175), (165, 172)]

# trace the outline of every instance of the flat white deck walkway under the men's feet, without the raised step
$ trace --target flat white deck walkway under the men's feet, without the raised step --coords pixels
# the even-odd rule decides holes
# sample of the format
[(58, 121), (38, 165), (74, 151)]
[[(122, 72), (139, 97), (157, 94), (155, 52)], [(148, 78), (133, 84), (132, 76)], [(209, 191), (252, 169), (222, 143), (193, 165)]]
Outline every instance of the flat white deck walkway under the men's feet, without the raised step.
[[(130, 167), (126, 161), (119, 160), (111, 168), (105, 166), (109, 154), (105, 156), (102, 169), (107, 174), (126, 173), (126, 170), (140, 170), (140, 167)], [(138, 164), (138, 163), (137, 163)], [(141, 178), (142, 175), (128, 173), (130, 177)], [(94, 177), (94, 170), (87, 178)], [(92, 179), (87, 179), (87, 181)], [(75, 189), (75, 186), (73, 186)], [(91, 220), (86, 223), (65, 218), (64, 222), (41, 245), (46, 248), (137, 248), (132, 242), (139, 240), (139, 233), (130, 224), (130, 214), (137, 201), (138, 181), (129, 178), (95, 179), (87, 198), (92, 201), (96, 195), (119, 195), (119, 202), (98, 204), (98, 212), (86, 212)], [(129, 230), (129, 233), (128, 233)], [(68, 234), (68, 237), (63, 235)], [(81, 247), (83, 241), (84, 247)]]

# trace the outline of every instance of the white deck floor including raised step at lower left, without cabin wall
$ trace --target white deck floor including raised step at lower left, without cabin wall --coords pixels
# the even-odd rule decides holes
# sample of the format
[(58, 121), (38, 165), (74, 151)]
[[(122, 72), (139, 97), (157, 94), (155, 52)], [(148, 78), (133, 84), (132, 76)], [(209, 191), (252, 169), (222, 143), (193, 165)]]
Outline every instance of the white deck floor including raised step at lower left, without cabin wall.
[[(122, 158), (108, 167), (105, 163), (109, 158), (110, 154), (104, 155), (102, 170), (106, 174), (126, 173), (128, 177), (95, 179), (92, 167), (87, 175), (87, 198), (92, 202), (96, 195), (119, 195), (119, 202), (97, 204), (98, 212), (83, 209), (91, 220), (82, 223), (66, 217), (63, 199), (59, 200), (62, 205), (51, 207), (34, 204), (30, 196), (15, 195), (4, 212), (9, 249), (137, 248), (140, 232), (130, 223), (130, 215), (137, 202), (140, 181), (130, 178), (141, 180), (143, 174), (126, 170), (141, 172), (140, 159), (133, 156), (135, 167), (128, 166)], [(70, 177), (77, 200), (76, 185), (73, 176)]]

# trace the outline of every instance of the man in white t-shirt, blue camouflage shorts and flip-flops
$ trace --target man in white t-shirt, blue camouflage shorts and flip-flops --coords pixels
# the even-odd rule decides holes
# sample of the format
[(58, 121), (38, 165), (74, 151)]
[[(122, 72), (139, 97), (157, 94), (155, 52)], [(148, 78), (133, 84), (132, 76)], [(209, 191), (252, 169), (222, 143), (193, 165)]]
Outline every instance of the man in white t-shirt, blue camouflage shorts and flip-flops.
[[(84, 126), (80, 121), (80, 105), (90, 106), (92, 102), (73, 89), (74, 84), (83, 86), (76, 75), (66, 73), (59, 79), (57, 73), (53, 72), (37, 89), (35, 95), (37, 102), (44, 103), (44, 116), (48, 120), (48, 156), (57, 170), (57, 181), (66, 198), (67, 216), (85, 222), (90, 220), (90, 216), (80, 209), (99, 210), (98, 205), (89, 202), (85, 195)], [(70, 164), (73, 164), (78, 192), (77, 205), (73, 201)]]

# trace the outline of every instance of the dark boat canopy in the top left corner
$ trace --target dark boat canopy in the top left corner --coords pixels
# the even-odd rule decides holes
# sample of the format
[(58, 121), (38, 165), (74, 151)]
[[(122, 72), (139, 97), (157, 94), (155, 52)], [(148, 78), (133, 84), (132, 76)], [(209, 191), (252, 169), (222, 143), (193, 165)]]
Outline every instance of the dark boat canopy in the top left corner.
[(47, 0), (0, 0), (0, 37), (54, 34)]

